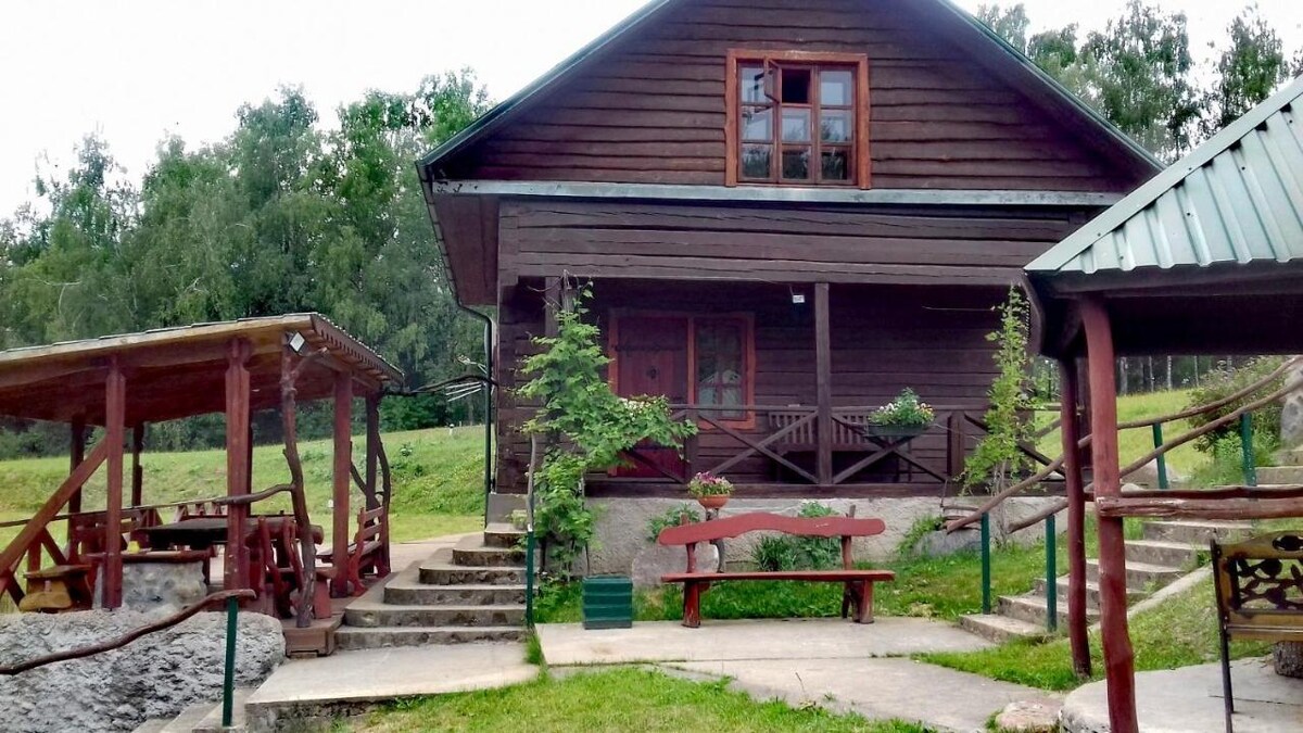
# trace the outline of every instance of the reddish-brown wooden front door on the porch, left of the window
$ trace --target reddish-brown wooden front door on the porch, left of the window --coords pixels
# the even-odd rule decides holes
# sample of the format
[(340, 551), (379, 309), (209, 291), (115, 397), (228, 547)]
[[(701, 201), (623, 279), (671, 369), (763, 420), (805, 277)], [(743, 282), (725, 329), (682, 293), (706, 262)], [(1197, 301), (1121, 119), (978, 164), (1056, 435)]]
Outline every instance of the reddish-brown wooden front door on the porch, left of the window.
[[(615, 334), (615, 391), (620, 396), (653, 395), (665, 396), (670, 403), (687, 403), (688, 320), (674, 316), (620, 318)], [(687, 471), (676, 449), (645, 443), (637, 453), (645, 462), (620, 468), (616, 475), (666, 479), (666, 473), (683, 476)]]

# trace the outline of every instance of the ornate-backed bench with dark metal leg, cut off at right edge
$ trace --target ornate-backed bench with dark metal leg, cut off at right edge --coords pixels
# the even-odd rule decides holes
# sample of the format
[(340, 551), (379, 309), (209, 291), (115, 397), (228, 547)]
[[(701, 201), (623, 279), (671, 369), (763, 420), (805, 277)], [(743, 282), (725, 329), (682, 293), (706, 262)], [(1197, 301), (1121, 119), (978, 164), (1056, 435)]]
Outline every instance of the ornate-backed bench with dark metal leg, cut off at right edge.
[(1303, 642), (1303, 535), (1277, 532), (1233, 544), (1212, 543), (1221, 633), (1222, 698), (1231, 732), (1235, 699), (1230, 640)]

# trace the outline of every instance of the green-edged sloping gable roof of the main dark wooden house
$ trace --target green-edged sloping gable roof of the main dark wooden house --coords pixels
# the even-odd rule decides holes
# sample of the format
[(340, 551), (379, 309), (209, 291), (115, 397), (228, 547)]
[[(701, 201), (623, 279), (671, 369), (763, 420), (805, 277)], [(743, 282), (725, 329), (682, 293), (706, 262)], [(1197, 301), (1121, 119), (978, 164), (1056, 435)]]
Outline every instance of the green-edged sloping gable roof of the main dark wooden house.
[[(602, 51), (606, 51), (614, 46), (620, 39), (627, 35), (633, 34), (638, 27), (646, 23), (650, 18), (657, 16), (661, 10), (680, 3), (691, 0), (652, 0), (641, 9), (635, 12), (632, 16), (615, 25), (612, 29), (594, 39), (592, 43), (580, 48), (575, 55), (566, 59), (550, 72), (536, 80), (533, 83), (528, 85), (525, 89), (520, 90), (506, 102), (498, 104), (487, 113), (481, 116), (478, 120), (470, 124), (443, 145), (438, 146), (435, 150), (425, 155), (418, 163), (417, 168), (420, 171), (421, 180), (426, 184), (437, 180), (439, 176), (437, 171), (440, 164), (455, 158), (460, 153), (468, 150), (508, 121), (511, 121), (521, 110), (526, 108), (532, 102), (543, 97), (549, 90), (560, 85), (563, 81), (569, 78), (579, 69), (584, 68), (594, 57), (599, 56)], [(979, 39), (984, 43), (989, 43), (995, 51), (999, 51), (998, 59), (1006, 64), (1007, 72), (1014, 76), (1022, 76), (1027, 81), (1041, 90), (1046, 91), (1042, 100), (1052, 106), (1059, 107), (1059, 111), (1066, 113), (1068, 117), (1075, 117), (1084, 123), (1084, 127), (1096, 133), (1097, 137), (1113, 154), (1121, 155), (1138, 168), (1149, 168), (1157, 172), (1162, 166), (1138, 142), (1131, 140), (1126, 133), (1119, 130), (1115, 125), (1104, 119), (1098, 112), (1091, 108), (1085, 102), (1079, 99), (1075, 94), (1068, 91), (1063, 85), (1055, 81), (1052, 76), (1045, 73), (1040, 67), (1037, 67), (1031, 59), (1028, 59), (1022, 51), (1010, 46), (1003, 38), (997, 33), (986, 27), (985, 23), (980, 22), (972, 14), (954, 5), (951, 0), (915, 0), (917, 4), (930, 4), (942, 10), (943, 13), (952, 16), (962, 25), (971, 29), (973, 33), (979, 34)]]

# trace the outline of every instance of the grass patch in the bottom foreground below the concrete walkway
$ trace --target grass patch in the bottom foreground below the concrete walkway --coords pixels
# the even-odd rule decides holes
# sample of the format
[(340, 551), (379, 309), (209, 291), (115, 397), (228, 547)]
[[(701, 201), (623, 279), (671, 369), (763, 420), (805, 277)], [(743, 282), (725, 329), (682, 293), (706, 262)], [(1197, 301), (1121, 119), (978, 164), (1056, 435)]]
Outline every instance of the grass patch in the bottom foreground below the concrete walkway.
[(924, 733), (907, 723), (870, 723), (857, 715), (758, 703), (724, 682), (697, 683), (645, 669), (543, 677), (502, 690), (440, 695), (400, 703), (352, 721), (352, 730), (640, 730), (644, 733), (780, 732)]

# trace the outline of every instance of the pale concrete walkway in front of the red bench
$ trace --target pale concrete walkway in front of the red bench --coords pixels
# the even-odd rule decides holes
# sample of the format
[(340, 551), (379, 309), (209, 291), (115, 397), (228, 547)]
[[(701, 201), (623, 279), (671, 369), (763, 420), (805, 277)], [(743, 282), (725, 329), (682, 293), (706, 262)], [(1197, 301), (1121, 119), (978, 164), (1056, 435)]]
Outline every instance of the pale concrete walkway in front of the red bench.
[(982, 732), (986, 720), (1011, 702), (1058, 706), (1042, 690), (899, 659), (990, 646), (923, 618), (878, 618), (872, 625), (705, 621), (700, 629), (657, 622), (603, 631), (549, 623), (538, 627), (538, 638), (554, 668), (654, 663), (671, 674), (732, 678), (735, 689), (760, 700), (911, 720), (936, 730)]

